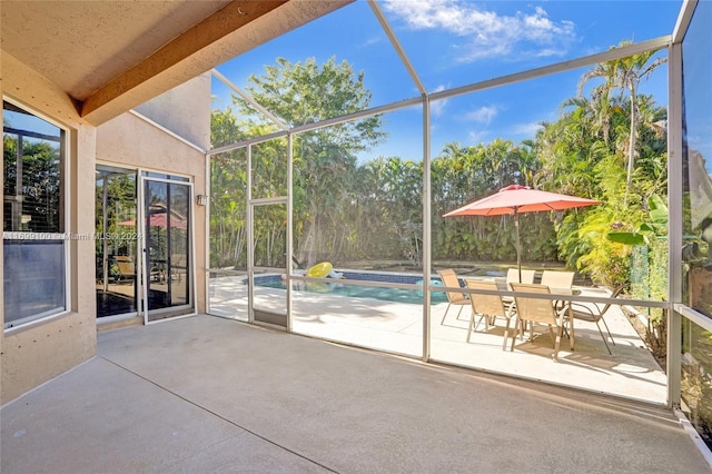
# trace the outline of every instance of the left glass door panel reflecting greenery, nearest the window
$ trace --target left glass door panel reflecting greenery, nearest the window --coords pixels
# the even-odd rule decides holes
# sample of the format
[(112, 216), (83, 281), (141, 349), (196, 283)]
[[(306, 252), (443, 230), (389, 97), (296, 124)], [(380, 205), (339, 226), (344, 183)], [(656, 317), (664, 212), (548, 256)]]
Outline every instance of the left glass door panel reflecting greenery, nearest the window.
[(138, 312), (136, 170), (103, 165), (96, 172), (97, 317)]

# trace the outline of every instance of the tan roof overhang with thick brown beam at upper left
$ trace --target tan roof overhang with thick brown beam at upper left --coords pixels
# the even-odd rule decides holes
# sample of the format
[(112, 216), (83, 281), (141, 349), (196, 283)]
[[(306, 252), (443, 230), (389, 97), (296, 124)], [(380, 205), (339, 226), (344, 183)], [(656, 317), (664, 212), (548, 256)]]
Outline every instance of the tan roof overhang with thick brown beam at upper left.
[(8, 1), (0, 34), (98, 126), (352, 1)]

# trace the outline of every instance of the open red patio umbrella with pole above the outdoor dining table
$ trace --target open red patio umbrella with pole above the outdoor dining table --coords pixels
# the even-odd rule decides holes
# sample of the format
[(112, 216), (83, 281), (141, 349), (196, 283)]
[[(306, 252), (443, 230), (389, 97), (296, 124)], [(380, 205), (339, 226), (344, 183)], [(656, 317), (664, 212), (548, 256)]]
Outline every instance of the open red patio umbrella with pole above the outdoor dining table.
[(451, 216), (501, 216), (514, 215), (516, 235), (516, 266), (522, 280), (522, 256), (520, 244), (520, 214), (537, 213), (542, 210), (563, 210), (572, 207), (584, 207), (601, 204), (600, 200), (584, 199), (576, 196), (541, 191), (528, 186), (511, 185), (500, 189), (500, 192), (478, 199), (466, 206), (451, 210), (443, 217)]

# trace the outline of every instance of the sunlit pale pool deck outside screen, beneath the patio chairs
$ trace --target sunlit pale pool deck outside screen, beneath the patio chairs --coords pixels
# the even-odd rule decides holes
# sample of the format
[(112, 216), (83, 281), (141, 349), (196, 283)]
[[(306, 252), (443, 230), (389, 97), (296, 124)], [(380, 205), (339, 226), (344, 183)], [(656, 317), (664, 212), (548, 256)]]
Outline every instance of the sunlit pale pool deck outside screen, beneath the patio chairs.
[[(209, 313), (246, 319), (245, 285), (224, 278), (210, 282)], [(597, 288), (582, 287), (581, 290), (583, 296), (607, 296)], [(284, 312), (285, 294), (257, 287), (256, 306)], [(296, 334), (422, 358), (422, 305), (294, 292), (291, 308), (291, 330)], [(429, 362), (666, 405), (665, 373), (620, 307), (612, 307), (605, 315), (615, 340), (615, 345), (611, 345), (612, 355), (593, 323), (576, 320), (575, 350), (570, 350), (568, 339), (563, 338), (558, 361), (552, 357), (553, 342), (545, 333), (531, 342), (516, 339), (514, 350), (508, 347), (503, 350), (502, 318), (488, 332), (484, 324), (476, 327), (467, 343), (468, 307), (459, 318), (459, 308), (451, 308), (441, 324), (446, 308), (447, 303), (432, 306)]]

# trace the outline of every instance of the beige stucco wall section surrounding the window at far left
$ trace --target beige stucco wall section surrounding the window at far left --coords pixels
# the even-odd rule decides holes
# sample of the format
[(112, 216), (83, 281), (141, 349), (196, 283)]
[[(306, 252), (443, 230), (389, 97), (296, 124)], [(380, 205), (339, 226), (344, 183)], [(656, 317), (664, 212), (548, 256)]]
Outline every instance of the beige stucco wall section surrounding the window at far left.
[[(69, 211), (66, 230), (77, 235), (91, 235), (95, 228), (95, 127), (79, 118), (69, 97), (49, 80), (6, 52), (2, 52), (1, 61), (2, 95), (69, 131)], [(0, 345), (1, 404), (17, 398), (96, 354), (93, 246), (95, 243), (90, 239), (71, 240), (69, 244), (69, 312), (3, 332)], [(0, 276), (12, 278), (11, 275)]]

